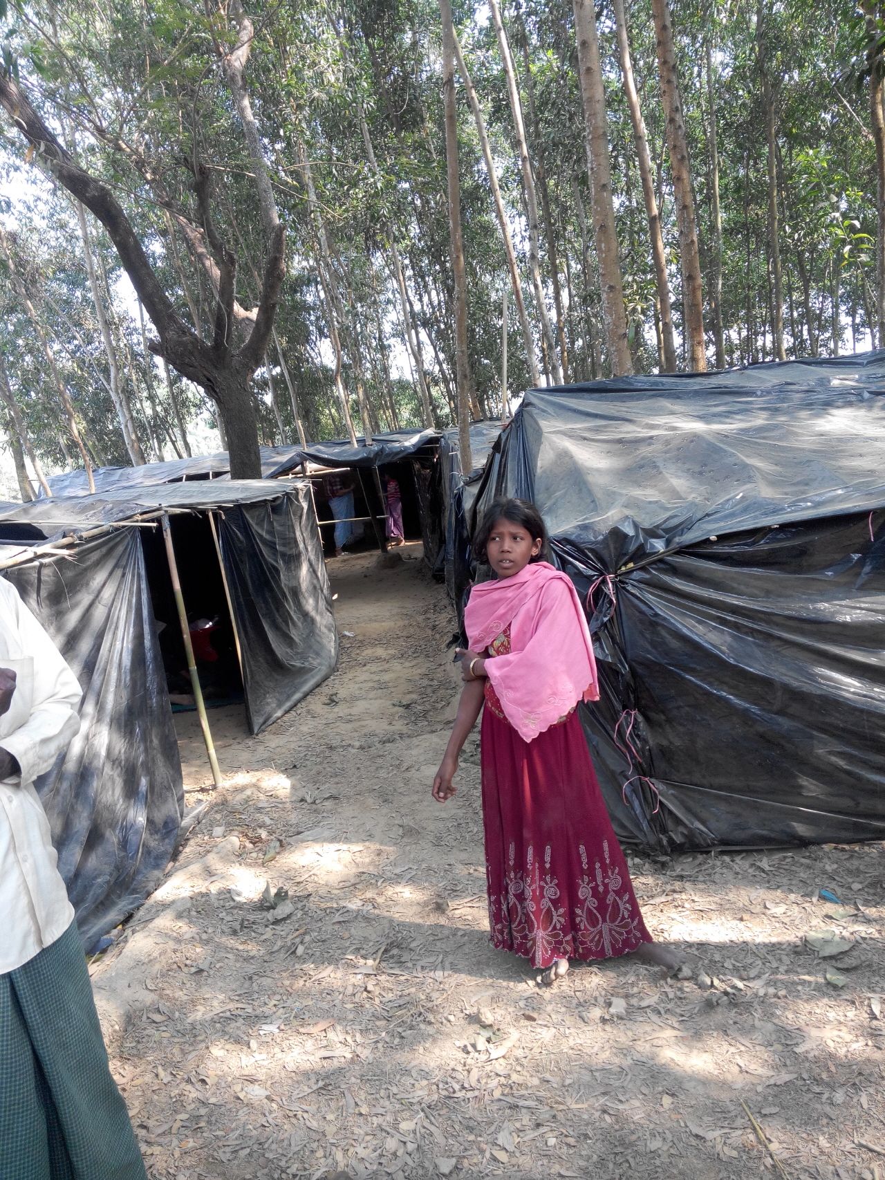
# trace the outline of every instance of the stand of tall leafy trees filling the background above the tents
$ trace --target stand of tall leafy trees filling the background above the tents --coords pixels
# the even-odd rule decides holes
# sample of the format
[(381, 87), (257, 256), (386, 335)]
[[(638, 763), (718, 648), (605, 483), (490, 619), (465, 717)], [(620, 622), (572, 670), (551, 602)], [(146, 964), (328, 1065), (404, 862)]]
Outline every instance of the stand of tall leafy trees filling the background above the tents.
[(511, 398), (885, 342), (872, 0), (0, 12), (21, 494), (494, 418), (505, 302)]

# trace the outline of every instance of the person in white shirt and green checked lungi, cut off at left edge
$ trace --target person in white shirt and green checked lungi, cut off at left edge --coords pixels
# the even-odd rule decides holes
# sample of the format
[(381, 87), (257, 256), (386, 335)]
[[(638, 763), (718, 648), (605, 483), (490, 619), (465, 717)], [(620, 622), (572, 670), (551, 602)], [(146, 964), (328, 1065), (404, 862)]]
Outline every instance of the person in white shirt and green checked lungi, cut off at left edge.
[(34, 779), (80, 728), (77, 677), (0, 578), (0, 1180), (144, 1180)]

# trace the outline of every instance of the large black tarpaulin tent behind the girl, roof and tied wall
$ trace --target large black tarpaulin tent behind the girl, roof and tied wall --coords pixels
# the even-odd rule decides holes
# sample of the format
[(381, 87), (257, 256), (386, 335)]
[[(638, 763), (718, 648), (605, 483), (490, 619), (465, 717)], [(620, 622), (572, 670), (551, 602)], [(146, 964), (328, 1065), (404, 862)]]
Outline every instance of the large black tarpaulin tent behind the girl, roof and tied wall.
[(526, 394), (533, 498), (588, 607), (581, 706), (649, 850), (885, 838), (885, 352)]

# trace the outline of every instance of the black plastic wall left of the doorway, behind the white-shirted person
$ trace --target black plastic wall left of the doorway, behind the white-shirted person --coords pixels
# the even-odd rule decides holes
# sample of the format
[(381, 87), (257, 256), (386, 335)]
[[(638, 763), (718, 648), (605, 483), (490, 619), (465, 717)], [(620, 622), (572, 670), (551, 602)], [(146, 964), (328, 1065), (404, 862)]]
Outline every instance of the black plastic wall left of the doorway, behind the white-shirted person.
[(88, 949), (157, 887), (184, 814), (138, 531), (86, 542), (76, 562), (6, 577), (83, 688), (80, 732), (37, 789)]

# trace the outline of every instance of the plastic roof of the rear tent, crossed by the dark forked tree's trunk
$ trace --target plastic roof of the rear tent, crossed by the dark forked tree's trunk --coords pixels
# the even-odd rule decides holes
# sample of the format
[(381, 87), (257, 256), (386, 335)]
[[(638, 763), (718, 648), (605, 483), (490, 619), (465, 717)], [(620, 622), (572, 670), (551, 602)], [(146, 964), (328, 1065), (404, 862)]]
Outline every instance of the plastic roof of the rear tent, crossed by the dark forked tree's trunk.
[[(421, 448), (435, 444), (439, 431), (402, 430), (374, 434), (366, 446), (363, 438), (352, 446), (349, 439), (330, 442), (309, 442), (301, 446), (261, 447), (261, 478), (278, 479), (291, 473), (300, 474), (307, 463), (328, 467), (380, 467), (386, 463), (407, 459)], [(195, 455), (192, 459), (170, 459), (166, 463), (146, 463), (138, 467), (94, 467), (92, 479), (96, 494), (117, 494), (130, 487), (149, 487), (179, 480), (230, 479), (230, 460), (227, 451), (216, 454)], [(66, 471), (51, 476), (47, 480), (53, 497), (88, 496), (88, 479), (85, 471)], [(42, 487), (39, 498), (44, 498)]]

